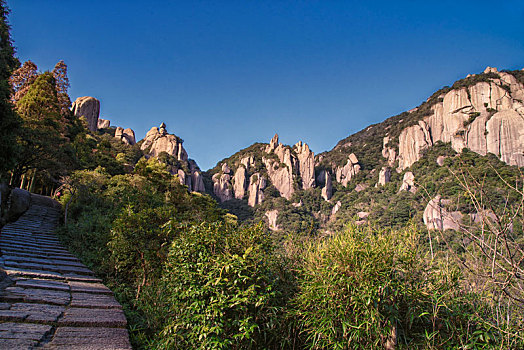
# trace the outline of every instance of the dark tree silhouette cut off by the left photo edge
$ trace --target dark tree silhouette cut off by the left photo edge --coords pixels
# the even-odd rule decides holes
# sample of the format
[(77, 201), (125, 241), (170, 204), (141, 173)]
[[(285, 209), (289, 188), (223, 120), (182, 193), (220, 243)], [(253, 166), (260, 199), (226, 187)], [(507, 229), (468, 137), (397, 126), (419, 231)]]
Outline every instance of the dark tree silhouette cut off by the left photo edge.
[(20, 127), (20, 118), (14, 112), (9, 101), (11, 89), (9, 76), (20, 62), (14, 57), (15, 49), (9, 34), (5, 2), (0, 0), (0, 180), (7, 177), (7, 172), (14, 166), (16, 131)]

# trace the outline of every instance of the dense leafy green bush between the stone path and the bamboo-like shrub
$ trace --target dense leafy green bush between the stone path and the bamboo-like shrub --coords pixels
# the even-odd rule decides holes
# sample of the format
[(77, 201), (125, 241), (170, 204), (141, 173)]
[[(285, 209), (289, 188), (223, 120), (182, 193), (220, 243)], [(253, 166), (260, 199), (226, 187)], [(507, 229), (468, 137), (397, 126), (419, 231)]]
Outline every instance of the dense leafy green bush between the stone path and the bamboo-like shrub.
[[(173, 223), (174, 224), (174, 223)], [(169, 248), (154, 347), (259, 349), (281, 342), (283, 286), (258, 226), (185, 227)]]

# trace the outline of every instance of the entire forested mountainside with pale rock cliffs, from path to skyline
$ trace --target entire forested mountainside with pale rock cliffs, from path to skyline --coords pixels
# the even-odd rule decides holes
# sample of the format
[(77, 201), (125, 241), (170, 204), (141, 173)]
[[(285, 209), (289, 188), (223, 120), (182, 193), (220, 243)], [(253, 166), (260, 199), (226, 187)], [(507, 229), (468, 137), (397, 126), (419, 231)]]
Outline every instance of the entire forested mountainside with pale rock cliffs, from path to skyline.
[(468, 76), (329, 152), (275, 135), (202, 173), (164, 123), (136, 142), (97, 99), (71, 103), (64, 61), (19, 62), (7, 14), (0, 180), (60, 201), (60, 239), (135, 348), (524, 347), (522, 71)]

